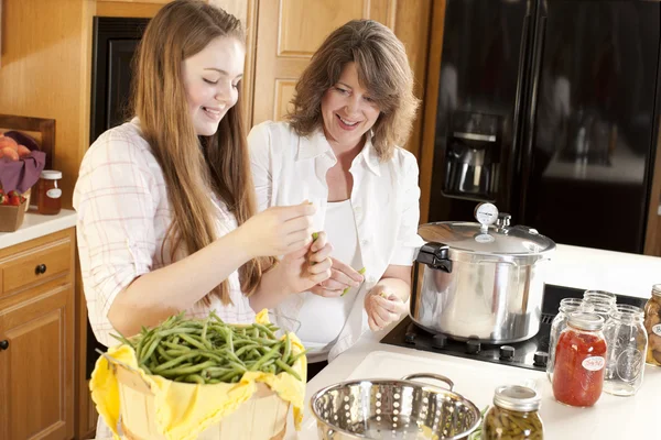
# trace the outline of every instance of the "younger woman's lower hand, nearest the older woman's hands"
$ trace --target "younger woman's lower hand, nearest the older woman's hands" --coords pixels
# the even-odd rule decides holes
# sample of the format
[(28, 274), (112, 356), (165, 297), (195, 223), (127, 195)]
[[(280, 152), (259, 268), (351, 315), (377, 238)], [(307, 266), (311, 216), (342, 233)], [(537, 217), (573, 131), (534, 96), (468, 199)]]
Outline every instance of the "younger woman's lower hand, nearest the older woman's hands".
[[(312, 238), (312, 234), (311, 234)], [(333, 262), (328, 256), (333, 248), (326, 243), (326, 234), (318, 233), (312, 244), (286, 254), (279, 263), (281, 276), (290, 293), (307, 292), (330, 276)]]

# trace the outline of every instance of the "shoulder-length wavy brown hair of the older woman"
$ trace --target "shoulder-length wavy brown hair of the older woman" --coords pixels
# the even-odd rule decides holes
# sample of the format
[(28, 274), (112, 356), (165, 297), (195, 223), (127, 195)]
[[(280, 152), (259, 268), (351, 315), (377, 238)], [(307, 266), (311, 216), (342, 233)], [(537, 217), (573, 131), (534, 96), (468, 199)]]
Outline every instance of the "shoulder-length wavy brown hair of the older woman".
[(312, 56), (296, 82), (293, 111), (286, 116), (300, 135), (308, 135), (324, 121), (322, 98), (339, 80), (347, 63), (356, 63), (358, 80), (381, 110), (372, 128), (372, 144), (381, 161), (409, 138), (419, 100), (413, 73), (402, 42), (373, 20), (351, 20), (336, 29)]

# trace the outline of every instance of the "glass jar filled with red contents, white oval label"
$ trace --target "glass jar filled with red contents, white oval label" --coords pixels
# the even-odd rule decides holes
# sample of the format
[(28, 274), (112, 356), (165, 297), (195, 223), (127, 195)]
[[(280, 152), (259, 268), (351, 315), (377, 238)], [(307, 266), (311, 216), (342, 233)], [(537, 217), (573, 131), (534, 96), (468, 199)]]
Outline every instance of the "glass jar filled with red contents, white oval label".
[(555, 348), (553, 396), (562, 404), (593, 406), (602, 396), (606, 366), (604, 319), (585, 311), (570, 315)]

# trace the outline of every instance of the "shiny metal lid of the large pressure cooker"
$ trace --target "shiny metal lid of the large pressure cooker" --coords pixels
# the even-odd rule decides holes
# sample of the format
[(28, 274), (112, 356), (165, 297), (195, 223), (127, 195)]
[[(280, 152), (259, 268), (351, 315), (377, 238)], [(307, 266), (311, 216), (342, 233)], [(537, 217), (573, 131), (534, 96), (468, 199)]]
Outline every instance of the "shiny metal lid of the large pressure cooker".
[(427, 242), (441, 242), (462, 253), (481, 255), (530, 256), (555, 249), (555, 243), (537, 230), (521, 226), (490, 226), (487, 232), (475, 222), (443, 221), (420, 227)]

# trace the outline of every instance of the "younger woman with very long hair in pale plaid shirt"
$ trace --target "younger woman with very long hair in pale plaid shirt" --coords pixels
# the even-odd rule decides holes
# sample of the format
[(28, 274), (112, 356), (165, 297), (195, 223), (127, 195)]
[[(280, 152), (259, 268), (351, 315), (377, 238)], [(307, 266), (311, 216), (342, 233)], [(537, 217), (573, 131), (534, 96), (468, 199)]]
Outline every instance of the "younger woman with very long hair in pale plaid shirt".
[(89, 321), (105, 345), (184, 310), (250, 322), (278, 293), (329, 276), (329, 246), (310, 245), (313, 205), (253, 216), (243, 61), (240, 22), (204, 1), (164, 6), (144, 32), (134, 118), (90, 146), (74, 191)]

